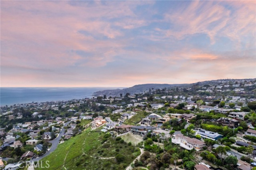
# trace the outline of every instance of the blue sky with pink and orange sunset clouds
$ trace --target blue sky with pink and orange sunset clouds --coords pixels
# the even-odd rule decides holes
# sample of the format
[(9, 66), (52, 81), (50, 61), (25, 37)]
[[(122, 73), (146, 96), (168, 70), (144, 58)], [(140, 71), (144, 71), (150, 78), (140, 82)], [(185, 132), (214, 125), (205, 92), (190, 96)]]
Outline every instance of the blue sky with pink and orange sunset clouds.
[(1, 1), (1, 87), (256, 77), (256, 1)]

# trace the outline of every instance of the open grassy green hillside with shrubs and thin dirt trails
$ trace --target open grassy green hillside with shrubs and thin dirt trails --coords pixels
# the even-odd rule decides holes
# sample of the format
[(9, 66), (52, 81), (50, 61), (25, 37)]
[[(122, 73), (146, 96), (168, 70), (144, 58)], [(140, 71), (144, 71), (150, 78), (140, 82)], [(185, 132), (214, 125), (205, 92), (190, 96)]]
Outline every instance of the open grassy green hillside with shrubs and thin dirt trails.
[[(139, 148), (129, 146), (126, 142), (116, 141), (100, 129), (91, 131), (91, 128), (88, 128), (74, 138), (59, 144), (54, 152), (42, 159), (42, 162), (50, 161), (48, 168), (50, 170), (125, 169), (139, 154)], [(119, 162), (116, 159), (117, 155), (121, 155)], [(44, 167), (46, 165), (43, 163)]]

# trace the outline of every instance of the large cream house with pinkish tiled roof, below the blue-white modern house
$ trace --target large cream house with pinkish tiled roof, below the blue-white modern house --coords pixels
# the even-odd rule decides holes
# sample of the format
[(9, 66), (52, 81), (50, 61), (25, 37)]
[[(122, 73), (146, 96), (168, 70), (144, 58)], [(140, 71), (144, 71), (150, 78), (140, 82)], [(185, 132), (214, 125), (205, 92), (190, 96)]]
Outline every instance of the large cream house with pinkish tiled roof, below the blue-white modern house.
[(179, 144), (180, 147), (187, 150), (195, 149), (199, 151), (203, 149), (203, 147), (206, 147), (205, 142), (198, 139), (189, 138), (187, 136), (184, 136), (183, 134), (174, 134), (172, 136), (172, 143)]

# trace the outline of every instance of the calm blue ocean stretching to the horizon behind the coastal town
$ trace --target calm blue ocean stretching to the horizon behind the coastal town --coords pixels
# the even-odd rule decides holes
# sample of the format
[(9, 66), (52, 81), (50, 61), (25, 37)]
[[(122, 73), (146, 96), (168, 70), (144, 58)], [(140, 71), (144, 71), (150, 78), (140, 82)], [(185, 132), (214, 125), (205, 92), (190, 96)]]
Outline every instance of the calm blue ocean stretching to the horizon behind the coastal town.
[(123, 87), (0, 87), (0, 105), (91, 98), (94, 92)]

